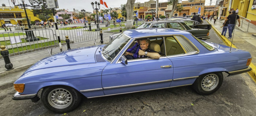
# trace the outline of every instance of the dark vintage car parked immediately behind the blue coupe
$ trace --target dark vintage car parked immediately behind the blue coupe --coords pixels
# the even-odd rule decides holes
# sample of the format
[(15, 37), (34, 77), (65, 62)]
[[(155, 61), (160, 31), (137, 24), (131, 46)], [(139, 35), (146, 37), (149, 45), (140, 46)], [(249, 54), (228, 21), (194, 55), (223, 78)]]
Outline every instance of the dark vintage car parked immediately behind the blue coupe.
[(190, 28), (183, 21), (158, 21), (158, 22), (145, 22), (141, 24), (137, 29), (140, 28), (172, 28), (184, 30), (192, 33), (192, 35), (196, 36), (199, 39), (210, 39), (209, 30), (208, 29), (198, 29), (198, 28)]

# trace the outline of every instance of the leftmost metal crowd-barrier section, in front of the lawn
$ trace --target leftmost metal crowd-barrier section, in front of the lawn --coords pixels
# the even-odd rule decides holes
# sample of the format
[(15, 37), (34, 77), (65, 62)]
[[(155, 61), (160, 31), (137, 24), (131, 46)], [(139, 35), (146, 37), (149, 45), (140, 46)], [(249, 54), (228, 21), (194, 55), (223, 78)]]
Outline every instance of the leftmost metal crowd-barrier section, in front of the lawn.
[[(57, 43), (58, 41), (54, 38), (54, 31), (52, 29), (0, 33), (0, 45), (6, 46), (10, 57), (45, 49), (49, 51), (49, 49), (56, 48)], [(2, 56), (0, 56), (0, 59), (2, 59)]]

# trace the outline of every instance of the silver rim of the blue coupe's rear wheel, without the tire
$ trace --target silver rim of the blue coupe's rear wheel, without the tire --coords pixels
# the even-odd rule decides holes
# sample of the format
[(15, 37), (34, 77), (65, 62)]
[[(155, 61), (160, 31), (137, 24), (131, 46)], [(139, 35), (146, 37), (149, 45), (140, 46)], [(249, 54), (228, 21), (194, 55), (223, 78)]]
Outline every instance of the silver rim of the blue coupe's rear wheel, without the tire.
[(205, 91), (211, 91), (217, 87), (219, 83), (219, 77), (216, 74), (209, 74), (204, 77), (201, 83), (201, 87)]

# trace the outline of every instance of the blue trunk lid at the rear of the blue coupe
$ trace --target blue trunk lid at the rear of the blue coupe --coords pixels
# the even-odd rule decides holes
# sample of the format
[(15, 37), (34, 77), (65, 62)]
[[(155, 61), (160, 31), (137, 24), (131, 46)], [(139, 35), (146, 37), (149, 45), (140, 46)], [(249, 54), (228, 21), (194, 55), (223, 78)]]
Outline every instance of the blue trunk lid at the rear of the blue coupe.
[[(202, 40), (202, 41), (204, 41), (204, 40)], [(220, 52), (230, 51), (230, 47), (228, 47), (226, 45), (221, 45), (221, 44), (213, 43), (210, 41), (204, 41), (204, 42), (207, 43), (208, 45), (218, 49), (218, 51), (220, 51)], [(231, 51), (244, 51), (244, 50), (240, 50), (240, 49), (236, 49), (236, 48), (232, 47)]]

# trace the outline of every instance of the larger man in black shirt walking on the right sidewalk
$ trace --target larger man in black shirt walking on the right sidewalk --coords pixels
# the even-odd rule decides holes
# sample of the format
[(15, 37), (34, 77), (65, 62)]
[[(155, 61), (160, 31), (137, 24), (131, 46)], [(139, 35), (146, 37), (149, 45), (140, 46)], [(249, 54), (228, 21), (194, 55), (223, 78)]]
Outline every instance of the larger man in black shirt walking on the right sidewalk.
[(236, 26), (236, 20), (238, 20), (238, 27), (240, 27), (240, 18), (239, 16), (236, 14), (235, 10), (232, 10), (232, 14), (230, 14), (224, 24), (228, 23), (228, 39), (232, 38), (232, 33), (234, 31), (234, 28)]

